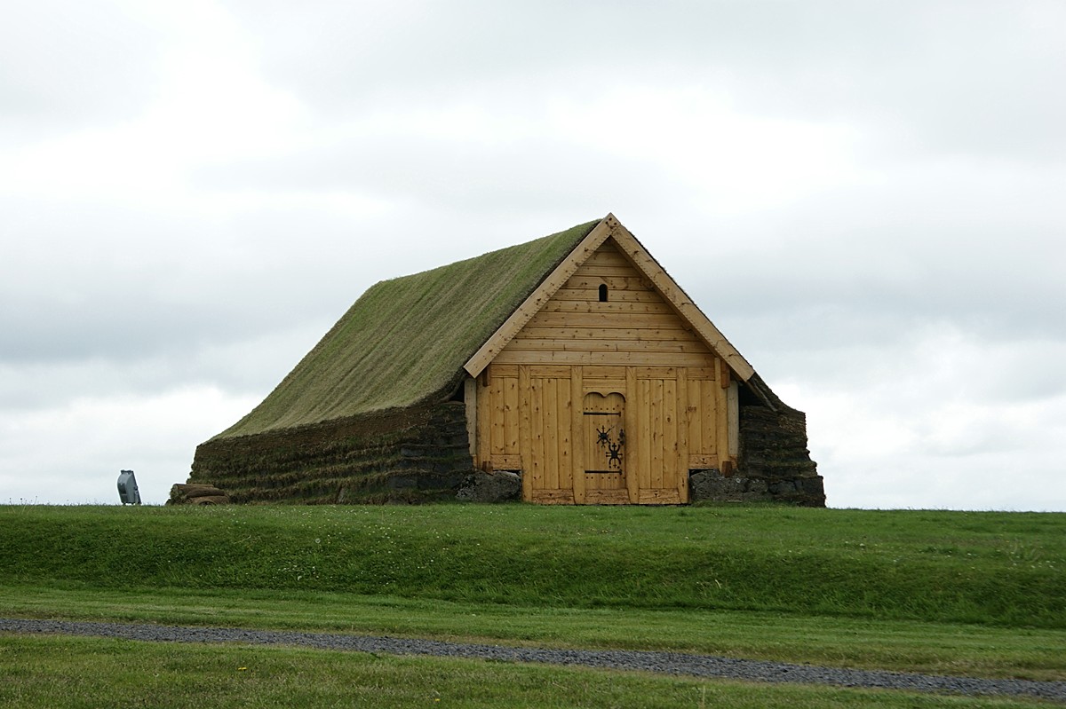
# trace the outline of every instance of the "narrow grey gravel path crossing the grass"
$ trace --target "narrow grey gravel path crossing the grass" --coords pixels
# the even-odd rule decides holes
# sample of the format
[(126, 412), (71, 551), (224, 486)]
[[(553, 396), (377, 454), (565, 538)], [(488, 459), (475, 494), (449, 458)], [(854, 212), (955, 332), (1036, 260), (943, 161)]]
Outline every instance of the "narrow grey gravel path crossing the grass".
[(612, 670), (639, 670), (668, 675), (722, 677), (762, 682), (804, 682), (953, 694), (1027, 695), (1066, 702), (1066, 682), (941, 677), (877, 670), (841, 670), (815, 667), (806, 664), (765, 662), (761, 660), (733, 660), (707, 655), (683, 655), (680, 653), (544, 649), (448, 643), (437, 640), (345, 636), (329, 632), (292, 632), (245, 630), (240, 628), (197, 628), (17, 619), (0, 619), (0, 631), (123, 638), (126, 640), (146, 640), (151, 642), (295, 645), (360, 653), (433, 655), (503, 660), (507, 662), (542, 662), (547, 664), (609, 667)]

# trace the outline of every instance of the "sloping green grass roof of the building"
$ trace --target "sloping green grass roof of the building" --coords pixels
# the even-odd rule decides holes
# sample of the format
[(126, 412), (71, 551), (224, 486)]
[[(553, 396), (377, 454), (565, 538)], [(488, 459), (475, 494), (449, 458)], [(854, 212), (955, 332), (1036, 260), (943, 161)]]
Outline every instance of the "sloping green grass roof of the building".
[(373, 285), (262, 403), (215, 439), (450, 396), (466, 361), (597, 224)]

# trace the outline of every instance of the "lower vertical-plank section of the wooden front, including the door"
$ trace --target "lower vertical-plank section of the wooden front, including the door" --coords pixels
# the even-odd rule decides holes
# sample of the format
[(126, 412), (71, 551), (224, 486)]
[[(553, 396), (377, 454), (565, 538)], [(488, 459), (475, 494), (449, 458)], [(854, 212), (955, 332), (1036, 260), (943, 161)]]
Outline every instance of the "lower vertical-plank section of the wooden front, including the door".
[[(678, 367), (492, 366), (479, 388), (479, 460), (522, 472), (528, 501), (688, 501), (698, 439), (715, 428)], [(487, 390), (487, 391), (486, 391)], [(708, 391), (711, 391), (710, 389)], [(692, 399), (692, 406), (690, 406)], [(695, 436), (690, 445), (690, 439)], [(487, 450), (486, 450), (487, 448)], [(485, 464), (482, 463), (482, 464)]]

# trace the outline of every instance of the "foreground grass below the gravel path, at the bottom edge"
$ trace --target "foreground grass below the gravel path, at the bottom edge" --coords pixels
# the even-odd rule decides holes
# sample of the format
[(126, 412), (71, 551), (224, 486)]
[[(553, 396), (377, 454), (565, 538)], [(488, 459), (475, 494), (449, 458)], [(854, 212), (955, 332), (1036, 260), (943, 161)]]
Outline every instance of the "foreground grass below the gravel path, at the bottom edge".
[(303, 648), (0, 636), (10, 709), (52, 707), (1047, 707), (1023, 698), (700, 681)]

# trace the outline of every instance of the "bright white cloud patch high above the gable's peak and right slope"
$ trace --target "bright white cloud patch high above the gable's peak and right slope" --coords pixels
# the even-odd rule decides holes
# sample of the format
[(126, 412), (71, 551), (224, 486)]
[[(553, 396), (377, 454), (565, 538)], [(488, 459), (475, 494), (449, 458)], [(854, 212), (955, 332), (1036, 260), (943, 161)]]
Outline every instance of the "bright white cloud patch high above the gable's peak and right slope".
[(655, 165), (694, 208), (773, 210), (855, 179), (845, 125), (745, 114), (706, 86), (628, 85), (551, 104), (544, 128)]

